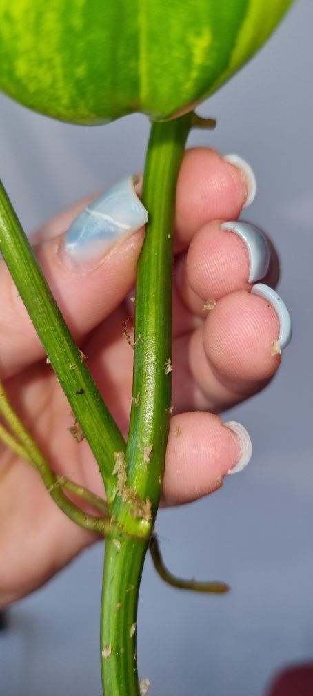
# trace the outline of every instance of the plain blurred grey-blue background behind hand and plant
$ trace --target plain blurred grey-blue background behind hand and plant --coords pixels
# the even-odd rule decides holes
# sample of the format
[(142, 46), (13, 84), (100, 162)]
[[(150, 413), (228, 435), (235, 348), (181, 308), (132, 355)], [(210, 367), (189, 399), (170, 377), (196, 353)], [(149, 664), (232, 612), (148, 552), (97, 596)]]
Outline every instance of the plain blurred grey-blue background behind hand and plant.
[[(159, 514), (172, 571), (220, 578), (232, 592), (178, 592), (147, 560), (138, 656), (151, 696), (265, 696), (283, 667), (313, 661), (312, 26), (312, 0), (298, 0), (262, 52), (201, 106), (217, 118), (216, 131), (189, 141), (236, 152), (254, 168), (257, 198), (242, 217), (278, 248), (278, 291), (294, 338), (271, 386), (225, 414), (252, 437), (245, 472), (199, 503)], [(1, 177), (26, 230), (140, 170), (147, 134), (143, 116), (72, 127), (1, 96)], [(10, 609), (0, 634), (1, 694), (100, 695), (102, 556), (98, 544)]]

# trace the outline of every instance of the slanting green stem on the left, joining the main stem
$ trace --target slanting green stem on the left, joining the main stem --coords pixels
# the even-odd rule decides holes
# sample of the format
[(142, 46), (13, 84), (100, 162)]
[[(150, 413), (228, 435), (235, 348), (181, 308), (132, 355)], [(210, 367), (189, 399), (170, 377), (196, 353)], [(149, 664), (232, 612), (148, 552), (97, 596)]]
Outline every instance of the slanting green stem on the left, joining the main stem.
[(0, 251), (72, 411), (95, 454), (105, 482), (106, 497), (113, 500), (116, 493), (112, 474), (113, 452), (124, 450), (124, 439), (82, 360), (1, 182)]

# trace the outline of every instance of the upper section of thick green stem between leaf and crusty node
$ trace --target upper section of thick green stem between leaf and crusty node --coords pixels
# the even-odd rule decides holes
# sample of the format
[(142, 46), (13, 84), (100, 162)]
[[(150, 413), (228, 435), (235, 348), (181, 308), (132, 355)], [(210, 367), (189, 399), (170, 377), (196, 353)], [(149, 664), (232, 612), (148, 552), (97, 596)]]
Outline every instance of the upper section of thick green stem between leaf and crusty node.
[[(133, 402), (127, 450), (127, 485), (157, 512), (171, 411), (172, 238), (175, 195), (192, 113), (153, 123), (143, 178), (149, 212), (136, 276)], [(175, 370), (175, 365), (173, 366)], [(126, 501), (127, 502), (127, 501)], [(113, 514), (128, 532), (138, 521), (117, 496)]]

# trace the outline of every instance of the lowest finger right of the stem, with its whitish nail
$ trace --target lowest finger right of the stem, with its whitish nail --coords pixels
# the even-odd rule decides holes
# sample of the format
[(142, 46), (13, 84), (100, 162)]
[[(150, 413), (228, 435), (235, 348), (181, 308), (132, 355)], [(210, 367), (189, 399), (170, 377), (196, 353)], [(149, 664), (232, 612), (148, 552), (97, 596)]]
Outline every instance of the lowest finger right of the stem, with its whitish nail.
[(245, 468), (252, 453), (250, 438), (241, 425), (229, 426), (203, 411), (172, 417), (163, 482), (165, 505), (207, 496), (220, 488), (227, 473)]

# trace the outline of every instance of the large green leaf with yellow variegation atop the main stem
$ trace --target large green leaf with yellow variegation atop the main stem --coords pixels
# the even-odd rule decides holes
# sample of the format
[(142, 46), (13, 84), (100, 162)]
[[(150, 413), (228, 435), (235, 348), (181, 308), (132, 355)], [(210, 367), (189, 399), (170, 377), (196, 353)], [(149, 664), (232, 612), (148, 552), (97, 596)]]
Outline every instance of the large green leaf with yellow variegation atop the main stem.
[(97, 124), (184, 113), (255, 54), (292, 0), (1, 0), (0, 89)]

